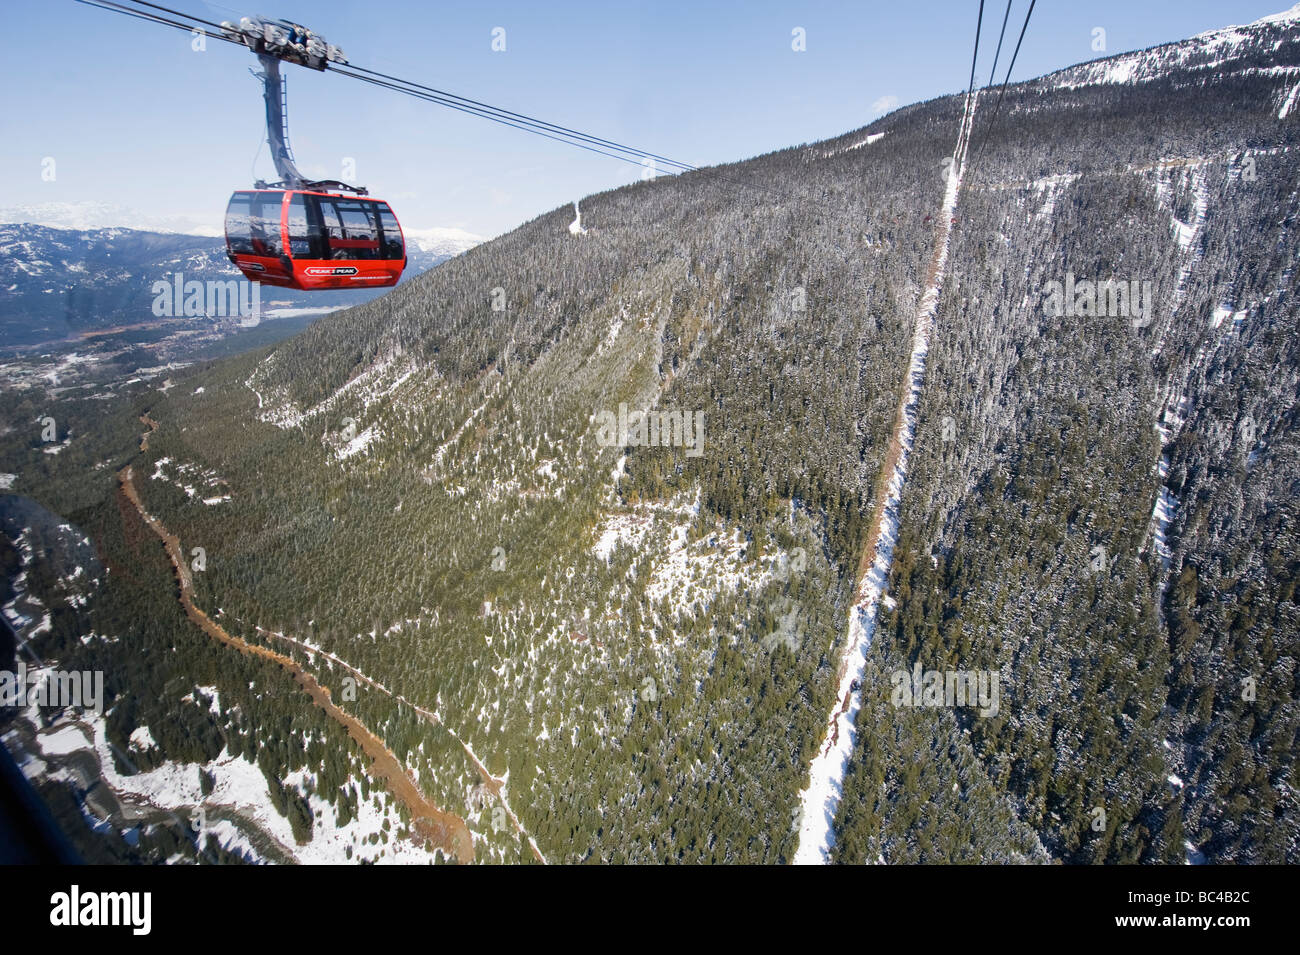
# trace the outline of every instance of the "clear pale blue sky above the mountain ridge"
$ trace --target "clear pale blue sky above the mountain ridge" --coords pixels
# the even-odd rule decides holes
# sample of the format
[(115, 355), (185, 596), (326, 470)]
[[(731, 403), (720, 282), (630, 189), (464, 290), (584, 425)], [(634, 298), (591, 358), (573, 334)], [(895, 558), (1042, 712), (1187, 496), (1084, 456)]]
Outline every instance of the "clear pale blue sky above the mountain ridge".
[[(1013, 78), (1245, 23), (1290, 1), (1040, 0)], [(838, 135), (887, 104), (965, 88), (978, 9), (976, 0), (237, 3), (165, 5), (216, 21), (295, 19), (354, 64), (694, 164)], [(1008, 49), (1027, 4), (1014, 3)], [(983, 79), (1004, 9), (985, 5)], [(491, 49), (498, 26), (504, 52)], [(1098, 26), (1105, 53), (1092, 49)], [(794, 27), (805, 52), (792, 49)], [(0, 207), (103, 200), (217, 223), (234, 188), (272, 178), (255, 60), (238, 47), (195, 52), (179, 31), (43, 0), (6, 4), (0, 62)], [(352, 157), (358, 181), (408, 227), (498, 235), (640, 174), (352, 79), (285, 69), (303, 170), (339, 177)], [(42, 179), (44, 157), (56, 161), (53, 182)]]

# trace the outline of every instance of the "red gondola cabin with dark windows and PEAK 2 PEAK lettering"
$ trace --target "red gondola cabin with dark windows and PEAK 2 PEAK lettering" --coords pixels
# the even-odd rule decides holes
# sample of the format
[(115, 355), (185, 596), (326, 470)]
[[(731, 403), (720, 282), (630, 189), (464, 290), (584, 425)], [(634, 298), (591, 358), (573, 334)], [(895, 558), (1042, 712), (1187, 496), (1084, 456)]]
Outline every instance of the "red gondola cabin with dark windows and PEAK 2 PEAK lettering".
[(406, 243), (389, 204), (335, 192), (244, 190), (226, 207), (226, 255), (254, 282), (286, 288), (385, 288)]

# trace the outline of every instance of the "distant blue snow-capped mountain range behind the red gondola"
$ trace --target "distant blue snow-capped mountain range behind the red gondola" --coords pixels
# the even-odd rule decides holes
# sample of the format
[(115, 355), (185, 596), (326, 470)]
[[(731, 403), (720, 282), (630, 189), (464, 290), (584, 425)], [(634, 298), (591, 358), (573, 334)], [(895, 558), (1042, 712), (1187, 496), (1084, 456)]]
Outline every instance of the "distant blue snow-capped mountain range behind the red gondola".
[[(0, 347), (30, 346), (153, 318), (152, 285), (186, 279), (235, 279), (220, 235), (164, 230), (161, 220), (140, 220), (108, 203), (49, 203), (0, 210)], [(104, 226), (146, 222), (142, 231)], [(174, 225), (183, 225), (178, 217)], [(458, 229), (412, 229), (403, 282), (481, 240)], [(265, 291), (269, 308), (356, 305), (380, 290)]]

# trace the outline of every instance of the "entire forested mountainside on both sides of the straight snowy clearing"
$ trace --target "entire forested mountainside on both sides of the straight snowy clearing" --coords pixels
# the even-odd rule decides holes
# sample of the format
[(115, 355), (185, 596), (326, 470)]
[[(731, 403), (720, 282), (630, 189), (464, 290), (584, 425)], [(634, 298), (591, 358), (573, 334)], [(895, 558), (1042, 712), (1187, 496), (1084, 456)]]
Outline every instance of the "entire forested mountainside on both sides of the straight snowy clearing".
[[(840, 860), (1295, 858), (1300, 29), (1239, 32), (976, 114)], [(541, 216), (110, 431), (69, 407), (65, 453), (6, 437), (100, 543), (90, 648), (166, 661), (121, 664), (109, 738), (247, 755), (295, 835), (358, 812), (356, 751), (186, 629), (134, 460), (195, 603), (335, 699), (334, 660), (382, 685), (342, 706), (478, 860), (790, 860), (962, 109), (590, 196), (584, 235)], [(1149, 309), (1045, 305), (1110, 278)], [(918, 663), (997, 672), (997, 713), (893, 706)], [(195, 686), (238, 707), (169, 746)]]

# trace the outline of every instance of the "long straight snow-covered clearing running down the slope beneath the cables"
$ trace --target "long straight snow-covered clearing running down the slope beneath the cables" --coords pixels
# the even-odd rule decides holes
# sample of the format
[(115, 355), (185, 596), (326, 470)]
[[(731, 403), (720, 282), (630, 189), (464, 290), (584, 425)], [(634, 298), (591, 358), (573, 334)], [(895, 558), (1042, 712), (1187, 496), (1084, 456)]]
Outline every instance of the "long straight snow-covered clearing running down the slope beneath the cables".
[(878, 504), (872, 522), (875, 531), (870, 544), (872, 561), (858, 583), (857, 600), (849, 609), (849, 638), (840, 664), (840, 685), (835, 708), (827, 719), (826, 737), (809, 767), (807, 786), (800, 793), (800, 841), (794, 851), (796, 865), (819, 865), (829, 861), (835, 846), (835, 815), (844, 794), (844, 774), (849, 768), (855, 741), (854, 725), (862, 709), (862, 677), (867, 665), (867, 651), (876, 629), (876, 612), (885, 596), (893, 550), (898, 541), (902, 489), (907, 478), (907, 459), (916, 437), (916, 414), (920, 394), (926, 383), (926, 359), (930, 353), (930, 333), (933, 327), (939, 298), (942, 294), (948, 269), (948, 249), (953, 234), (953, 216), (966, 173), (967, 130), (975, 118), (979, 92), (971, 97), (963, 112), (962, 129), (953, 151), (952, 174), (944, 192), (939, 233), (935, 236), (935, 256), (931, 261), (930, 282), (920, 296), (916, 325), (913, 333), (911, 360), (907, 365), (906, 390), (898, 408), (898, 420), (890, 442), (885, 466), (893, 460), (884, 499)]

